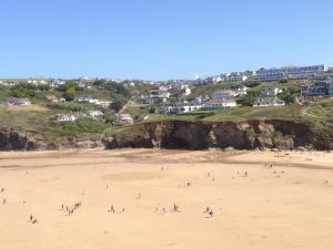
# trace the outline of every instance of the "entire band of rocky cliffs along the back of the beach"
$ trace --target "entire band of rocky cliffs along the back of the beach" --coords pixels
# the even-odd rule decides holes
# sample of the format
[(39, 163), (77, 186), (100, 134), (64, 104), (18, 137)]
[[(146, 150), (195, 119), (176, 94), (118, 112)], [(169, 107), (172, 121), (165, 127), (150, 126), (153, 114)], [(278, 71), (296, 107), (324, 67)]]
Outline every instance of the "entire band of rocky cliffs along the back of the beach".
[[(105, 138), (105, 148), (228, 148), (332, 149), (333, 137), (314, 134), (311, 127), (291, 121), (182, 122), (167, 121), (134, 125), (125, 133)], [(46, 141), (36, 132), (18, 132), (0, 125), (0, 151), (46, 151), (101, 147), (101, 141), (67, 137)]]

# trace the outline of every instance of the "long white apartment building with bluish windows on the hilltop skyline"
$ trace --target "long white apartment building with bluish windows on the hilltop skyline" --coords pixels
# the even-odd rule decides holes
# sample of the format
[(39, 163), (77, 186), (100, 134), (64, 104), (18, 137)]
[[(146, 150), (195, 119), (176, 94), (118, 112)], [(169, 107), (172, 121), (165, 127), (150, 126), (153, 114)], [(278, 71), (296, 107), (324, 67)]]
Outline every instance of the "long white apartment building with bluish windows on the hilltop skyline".
[(260, 69), (256, 76), (262, 81), (284, 80), (284, 79), (302, 79), (315, 76), (327, 69), (325, 65), (310, 66), (285, 66), (281, 69)]

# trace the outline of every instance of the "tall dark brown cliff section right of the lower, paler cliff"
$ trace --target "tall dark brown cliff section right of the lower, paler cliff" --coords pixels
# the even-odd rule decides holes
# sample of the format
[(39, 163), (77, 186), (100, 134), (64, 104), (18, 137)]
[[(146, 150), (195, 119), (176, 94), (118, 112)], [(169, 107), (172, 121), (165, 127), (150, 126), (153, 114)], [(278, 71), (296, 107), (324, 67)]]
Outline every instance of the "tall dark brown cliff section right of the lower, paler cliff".
[(236, 149), (312, 147), (332, 149), (332, 138), (316, 137), (311, 128), (291, 121), (250, 121), (242, 123), (168, 121), (133, 126), (124, 134), (104, 141), (105, 148), (143, 147), (169, 149)]

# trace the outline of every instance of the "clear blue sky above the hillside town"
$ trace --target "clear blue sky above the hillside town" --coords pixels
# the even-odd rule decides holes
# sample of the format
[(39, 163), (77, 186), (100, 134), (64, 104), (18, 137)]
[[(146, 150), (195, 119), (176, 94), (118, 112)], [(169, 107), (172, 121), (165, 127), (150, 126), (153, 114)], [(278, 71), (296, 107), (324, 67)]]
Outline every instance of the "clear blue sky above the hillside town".
[(333, 64), (332, 0), (1, 0), (0, 77)]

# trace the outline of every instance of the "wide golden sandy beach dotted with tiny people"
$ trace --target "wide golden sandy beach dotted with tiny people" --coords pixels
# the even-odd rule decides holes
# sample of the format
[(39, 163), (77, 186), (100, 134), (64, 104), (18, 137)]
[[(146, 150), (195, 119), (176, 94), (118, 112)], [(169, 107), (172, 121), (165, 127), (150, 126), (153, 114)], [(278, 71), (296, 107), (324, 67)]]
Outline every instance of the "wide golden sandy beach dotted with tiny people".
[(333, 153), (0, 153), (0, 220), (1, 249), (331, 249)]

